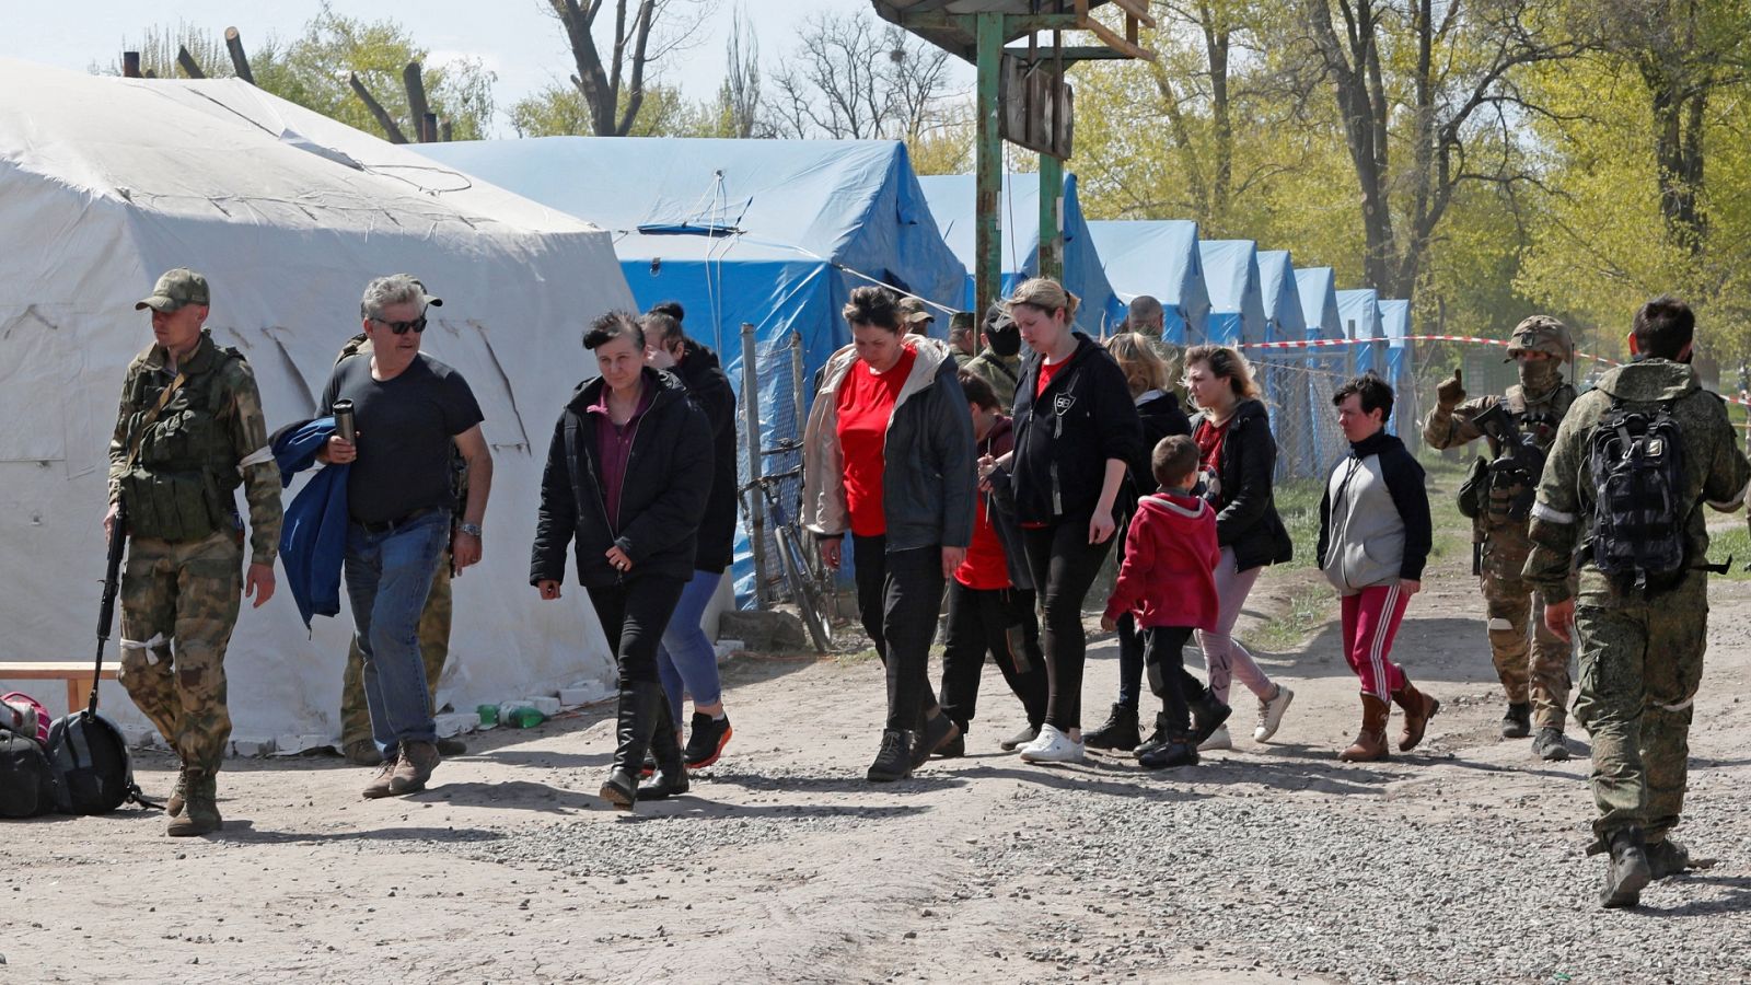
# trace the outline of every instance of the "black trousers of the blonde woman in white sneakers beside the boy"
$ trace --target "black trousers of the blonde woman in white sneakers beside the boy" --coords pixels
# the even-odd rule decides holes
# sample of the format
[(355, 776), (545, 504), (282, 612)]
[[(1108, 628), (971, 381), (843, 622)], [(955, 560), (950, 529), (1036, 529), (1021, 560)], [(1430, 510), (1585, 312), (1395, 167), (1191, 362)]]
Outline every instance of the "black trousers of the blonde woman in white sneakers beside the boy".
[(1045, 650), (1045, 680), (1051, 698), (1045, 724), (1061, 733), (1082, 727), (1082, 663), (1087, 636), (1082, 633), (1082, 599), (1089, 594), (1114, 538), (1089, 543), (1089, 515), (1063, 517), (1047, 528), (1023, 528), (1028, 568), (1040, 592), (1040, 647)]

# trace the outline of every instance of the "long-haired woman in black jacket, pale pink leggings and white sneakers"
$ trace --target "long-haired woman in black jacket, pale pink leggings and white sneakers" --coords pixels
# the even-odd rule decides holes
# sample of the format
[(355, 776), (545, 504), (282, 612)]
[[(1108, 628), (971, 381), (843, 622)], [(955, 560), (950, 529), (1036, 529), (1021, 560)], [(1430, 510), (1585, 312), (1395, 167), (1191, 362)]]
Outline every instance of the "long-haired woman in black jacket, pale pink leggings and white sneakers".
[(1233, 636), (1234, 620), (1259, 571), (1289, 561), (1294, 545), (1276, 515), (1271, 491), (1276, 438), (1271, 436), (1271, 419), (1247, 358), (1227, 345), (1192, 345), (1185, 351), (1185, 393), (1198, 407), (1192, 440), (1198, 442), (1203, 496), (1215, 507), (1215, 540), (1222, 547), (1215, 570), (1217, 626), (1210, 633), (1198, 631), (1210, 670), (1210, 694), (1192, 706), (1194, 734), (1199, 748), (1229, 748), (1233, 741), (1222, 722), (1229, 715), (1227, 689), (1234, 678), (1259, 699), (1254, 741), (1276, 734), (1296, 696), (1273, 684)]

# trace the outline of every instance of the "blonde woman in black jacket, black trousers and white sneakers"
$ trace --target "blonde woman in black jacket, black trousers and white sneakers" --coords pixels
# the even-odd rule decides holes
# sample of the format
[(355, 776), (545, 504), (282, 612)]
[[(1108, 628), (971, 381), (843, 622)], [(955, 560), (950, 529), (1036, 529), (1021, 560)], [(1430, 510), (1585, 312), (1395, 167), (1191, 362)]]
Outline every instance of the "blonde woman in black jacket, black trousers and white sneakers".
[(1082, 598), (1112, 550), (1114, 503), (1143, 433), (1124, 372), (1098, 342), (1072, 331), (1077, 296), (1047, 277), (1024, 280), (1009, 300), (1031, 354), (1016, 384), (1016, 450), (1007, 466), (1016, 519), (1045, 615), (1047, 701), (1040, 736), (1021, 747), (1028, 762), (1082, 759)]

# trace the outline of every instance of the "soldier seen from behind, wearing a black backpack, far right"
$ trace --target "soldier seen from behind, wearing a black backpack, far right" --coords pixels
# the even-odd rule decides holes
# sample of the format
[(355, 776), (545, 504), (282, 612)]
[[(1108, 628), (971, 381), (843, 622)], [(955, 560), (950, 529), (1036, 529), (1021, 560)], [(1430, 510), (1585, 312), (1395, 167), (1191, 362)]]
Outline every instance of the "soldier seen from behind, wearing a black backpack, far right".
[[(1721, 512), (1744, 505), (1751, 463), (1721, 400), (1702, 389), (1688, 366), (1695, 317), (1672, 298), (1656, 298), (1635, 314), (1632, 352), (1644, 359), (1607, 372), (1569, 410), (1537, 487), (1532, 552), (1525, 580), (1544, 599), (1544, 620), (1579, 641), (1581, 689), (1574, 717), (1592, 736), (1593, 801), (1599, 840), (1588, 854), (1609, 852), (1606, 906), (1634, 906), (1649, 878), (1683, 871), (1690, 854), (1669, 838), (1684, 804), (1691, 703), (1702, 680), (1709, 620), (1709, 533), (1700, 503)], [(1690, 514), (1684, 570), (1656, 591), (1604, 575), (1583, 554), (1579, 582), (1571, 577), (1574, 549), (1593, 542), (1595, 478), (1588, 442), (1613, 400), (1632, 410), (1670, 403), (1683, 435), (1683, 489), (1674, 501)]]

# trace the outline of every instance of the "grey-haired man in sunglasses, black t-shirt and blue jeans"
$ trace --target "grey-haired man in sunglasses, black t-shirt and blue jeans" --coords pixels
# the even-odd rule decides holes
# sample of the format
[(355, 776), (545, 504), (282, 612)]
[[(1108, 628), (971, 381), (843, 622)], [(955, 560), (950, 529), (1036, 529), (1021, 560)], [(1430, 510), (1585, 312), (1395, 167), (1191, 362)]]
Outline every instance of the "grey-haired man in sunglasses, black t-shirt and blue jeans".
[[(424, 790), (438, 766), (434, 708), (420, 657), (418, 619), (450, 547), (455, 570), (480, 561), (480, 522), (492, 491), (492, 454), (480, 403), (462, 373), (420, 352), (427, 305), (441, 305), (406, 273), (364, 287), (369, 354), (341, 359), (322, 393), (354, 407), (355, 440), (334, 435), (317, 457), (347, 464), (347, 598), (364, 655), (371, 736), (383, 754), (366, 797)], [(452, 447), (468, 466), (455, 501)], [(462, 522), (450, 536), (452, 514)]]

